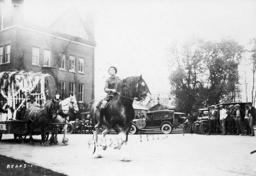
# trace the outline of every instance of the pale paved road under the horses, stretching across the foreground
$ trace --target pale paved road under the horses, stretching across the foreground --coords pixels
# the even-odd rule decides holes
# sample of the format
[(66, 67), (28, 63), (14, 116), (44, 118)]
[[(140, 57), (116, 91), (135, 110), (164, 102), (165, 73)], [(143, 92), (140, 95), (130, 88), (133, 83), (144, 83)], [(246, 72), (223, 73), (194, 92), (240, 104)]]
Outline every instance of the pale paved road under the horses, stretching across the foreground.
[[(115, 139), (116, 135), (108, 135)], [(154, 140), (153, 140), (154, 137)], [(70, 134), (64, 146), (17, 144), (13, 135), (3, 135), (0, 154), (40, 165), (70, 176), (77, 175), (195, 175), (195, 176), (255, 176), (256, 137), (180, 134), (129, 135), (131, 162), (120, 161), (121, 150), (108, 148), (102, 158), (92, 158), (92, 135)], [(59, 136), (61, 142), (62, 134)], [(141, 142), (140, 142), (141, 141)], [(0, 169), (1, 170), (1, 169)]]

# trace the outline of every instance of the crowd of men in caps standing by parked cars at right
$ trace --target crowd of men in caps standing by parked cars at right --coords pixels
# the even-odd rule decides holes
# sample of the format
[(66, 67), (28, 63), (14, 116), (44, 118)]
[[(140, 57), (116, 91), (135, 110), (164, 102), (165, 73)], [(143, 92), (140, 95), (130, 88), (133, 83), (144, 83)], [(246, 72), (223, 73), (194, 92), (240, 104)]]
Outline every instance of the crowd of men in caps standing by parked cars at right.
[[(202, 112), (199, 112), (202, 116)], [(189, 131), (192, 132), (192, 124), (196, 121), (195, 114), (188, 114)], [(256, 121), (256, 109), (252, 106), (252, 102), (245, 105), (245, 111), (241, 109), (239, 104), (236, 105), (220, 105), (219, 107), (212, 105), (208, 114), (209, 133), (207, 135), (218, 134), (216, 128), (219, 121), (221, 135), (239, 135), (255, 136), (253, 124)]]

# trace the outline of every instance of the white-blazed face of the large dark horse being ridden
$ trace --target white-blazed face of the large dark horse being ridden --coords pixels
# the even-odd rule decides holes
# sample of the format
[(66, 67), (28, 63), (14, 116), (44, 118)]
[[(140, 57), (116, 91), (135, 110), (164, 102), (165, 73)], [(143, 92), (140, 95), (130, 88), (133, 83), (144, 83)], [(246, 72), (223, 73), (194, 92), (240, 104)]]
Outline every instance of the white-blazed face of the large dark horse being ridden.
[(142, 75), (138, 77), (137, 83), (137, 94), (138, 97), (144, 105), (148, 104), (148, 102), (152, 99), (150, 91), (148, 89), (147, 83), (143, 80)]

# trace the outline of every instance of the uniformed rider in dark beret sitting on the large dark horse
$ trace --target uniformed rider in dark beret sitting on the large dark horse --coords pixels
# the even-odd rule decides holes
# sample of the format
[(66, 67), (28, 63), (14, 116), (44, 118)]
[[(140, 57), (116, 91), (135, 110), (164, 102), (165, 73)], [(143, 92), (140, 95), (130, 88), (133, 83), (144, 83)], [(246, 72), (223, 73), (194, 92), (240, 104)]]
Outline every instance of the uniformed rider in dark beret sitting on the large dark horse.
[(110, 100), (113, 99), (114, 93), (116, 93), (115, 86), (117, 82), (121, 81), (119, 77), (116, 76), (117, 69), (114, 66), (109, 67), (108, 74), (110, 74), (110, 77), (105, 82), (104, 92), (108, 93), (108, 95), (104, 98), (102, 101), (101, 107), (100, 107), (100, 118), (98, 123), (94, 126), (94, 128), (99, 128), (102, 126), (102, 119), (105, 114), (105, 108)]

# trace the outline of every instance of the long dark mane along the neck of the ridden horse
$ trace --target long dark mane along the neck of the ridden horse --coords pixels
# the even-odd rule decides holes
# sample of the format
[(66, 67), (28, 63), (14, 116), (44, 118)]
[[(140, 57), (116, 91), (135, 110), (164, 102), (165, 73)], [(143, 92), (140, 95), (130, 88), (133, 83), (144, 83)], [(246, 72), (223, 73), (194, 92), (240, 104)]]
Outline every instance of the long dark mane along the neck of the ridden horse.
[(119, 92), (123, 96), (127, 96), (130, 98), (134, 98), (135, 88), (138, 84), (138, 76), (131, 76), (128, 78), (119, 81), (116, 84), (116, 91)]

